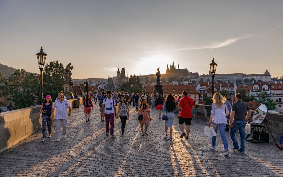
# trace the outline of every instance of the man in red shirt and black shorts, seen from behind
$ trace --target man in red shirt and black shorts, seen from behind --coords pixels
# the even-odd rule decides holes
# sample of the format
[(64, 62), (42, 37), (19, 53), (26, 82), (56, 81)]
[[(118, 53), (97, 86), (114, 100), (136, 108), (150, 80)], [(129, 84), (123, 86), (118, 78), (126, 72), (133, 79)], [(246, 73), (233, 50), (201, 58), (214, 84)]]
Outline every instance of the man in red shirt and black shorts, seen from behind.
[[(192, 110), (195, 105), (193, 99), (188, 97), (187, 91), (183, 91), (182, 96), (183, 98), (180, 100), (178, 105), (178, 108), (181, 110), (179, 116), (179, 127), (181, 129), (182, 135), (180, 136), (180, 138), (186, 136), (186, 139), (189, 139), (190, 124), (193, 117)], [(184, 123), (186, 124), (187, 135), (184, 133)]]

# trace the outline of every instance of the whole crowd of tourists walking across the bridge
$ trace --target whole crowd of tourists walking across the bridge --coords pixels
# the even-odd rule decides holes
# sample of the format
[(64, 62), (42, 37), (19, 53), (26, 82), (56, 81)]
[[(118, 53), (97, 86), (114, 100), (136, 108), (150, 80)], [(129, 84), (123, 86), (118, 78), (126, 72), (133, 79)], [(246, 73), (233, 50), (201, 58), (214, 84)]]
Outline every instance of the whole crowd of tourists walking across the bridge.
[[(146, 93), (128, 93), (128, 92), (116, 92), (107, 91), (106, 93), (102, 91), (97, 94), (85, 93), (83, 95), (83, 105), (86, 122), (90, 122), (91, 109), (93, 110), (94, 104), (92, 98), (94, 99), (94, 104), (96, 104), (96, 99), (98, 98), (98, 105), (100, 110), (100, 121), (105, 121), (106, 136), (115, 137), (114, 135), (114, 119), (120, 118), (121, 120), (121, 136), (125, 134), (126, 121), (130, 117), (130, 106), (135, 107), (138, 111), (138, 122), (141, 127), (141, 136), (148, 136), (148, 124), (152, 120), (150, 116), (150, 109), (156, 109), (159, 113), (159, 119), (161, 119), (161, 110), (164, 110), (165, 115), (162, 119), (165, 120), (165, 136), (169, 141), (172, 141), (173, 132), (173, 121), (175, 118), (176, 110), (179, 110), (177, 118), (179, 123), (179, 128), (181, 130), (180, 138), (185, 137), (189, 139), (190, 125), (192, 119), (195, 118), (195, 101), (188, 96), (187, 91), (183, 91), (182, 95), (172, 95), (169, 94), (165, 101), (163, 101), (162, 96), (158, 94), (146, 94)], [(207, 125), (213, 127), (215, 132), (219, 129), (223, 145), (224, 145), (224, 155), (228, 155), (228, 143), (225, 135), (225, 130), (228, 129), (230, 133), (231, 140), (233, 141), (233, 149), (238, 150), (240, 153), (244, 153), (245, 150), (245, 126), (248, 118), (250, 117), (251, 110), (249, 106), (242, 101), (242, 95), (235, 94), (235, 101), (232, 105), (230, 104), (229, 95), (222, 97), (220, 93), (215, 93), (213, 95), (213, 103), (211, 105), (211, 116)], [(118, 110), (116, 106), (118, 105)], [(56, 101), (52, 103), (50, 95), (44, 98), (44, 103), (41, 105), (40, 113), (42, 113), (42, 140), (46, 140), (48, 128), (48, 137), (51, 137), (52, 130), (52, 118), (54, 117), (54, 110), (56, 109), (56, 135), (57, 141), (61, 140), (61, 127), (63, 127), (63, 137), (67, 137), (67, 116), (71, 115), (71, 105), (64, 97), (64, 93), (58, 93)], [(69, 113), (67, 114), (67, 110)], [(247, 114), (245, 116), (245, 113)], [(186, 129), (184, 130), (184, 124), (186, 124)], [(168, 134), (168, 127), (170, 134)], [(236, 140), (235, 133), (239, 131), (241, 144)], [(208, 147), (214, 150), (216, 146), (216, 136), (212, 137), (211, 145)]]

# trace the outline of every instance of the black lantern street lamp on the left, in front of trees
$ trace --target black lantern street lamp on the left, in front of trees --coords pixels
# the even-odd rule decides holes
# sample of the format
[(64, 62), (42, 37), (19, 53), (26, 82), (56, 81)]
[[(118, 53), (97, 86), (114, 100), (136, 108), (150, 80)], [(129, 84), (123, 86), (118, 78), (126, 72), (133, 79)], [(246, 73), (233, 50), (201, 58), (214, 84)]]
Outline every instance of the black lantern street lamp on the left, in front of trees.
[(43, 102), (43, 93), (42, 93), (42, 71), (43, 71), (43, 67), (45, 64), (45, 59), (47, 54), (43, 52), (43, 48), (41, 46), (40, 52), (36, 53), (37, 56), (37, 61), (38, 61), (38, 65), (39, 65), (39, 70), (40, 70), (40, 79), (39, 79), (39, 96), (37, 99), (37, 104), (42, 104)]

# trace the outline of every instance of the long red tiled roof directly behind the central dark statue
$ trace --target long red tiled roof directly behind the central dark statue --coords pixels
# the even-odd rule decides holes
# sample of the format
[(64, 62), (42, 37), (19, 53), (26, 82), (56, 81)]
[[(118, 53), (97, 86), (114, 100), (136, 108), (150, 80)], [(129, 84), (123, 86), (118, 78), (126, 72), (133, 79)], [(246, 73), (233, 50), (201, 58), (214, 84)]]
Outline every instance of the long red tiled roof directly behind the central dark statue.
[[(155, 87), (152, 86), (150, 89), (147, 90), (147, 93), (154, 93)], [(175, 89), (175, 91), (173, 91)], [(164, 94), (182, 94), (183, 91), (188, 90), (189, 94), (200, 94), (190, 85), (163, 85), (162, 87)], [(181, 91), (180, 91), (181, 90)], [(191, 91), (190, 91), (191, 90)]]

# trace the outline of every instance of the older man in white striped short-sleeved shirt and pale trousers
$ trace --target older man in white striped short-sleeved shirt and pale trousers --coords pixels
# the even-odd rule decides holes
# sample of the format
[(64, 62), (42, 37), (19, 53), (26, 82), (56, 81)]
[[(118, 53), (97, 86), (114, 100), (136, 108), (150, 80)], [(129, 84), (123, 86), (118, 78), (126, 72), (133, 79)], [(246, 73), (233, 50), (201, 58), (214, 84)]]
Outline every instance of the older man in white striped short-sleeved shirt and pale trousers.
[[(62, 93), (58, 93), (57, 96), (59, 99), (56, 100), (53, 104), (52, 111), (51, 111), (51, 118), (54, 117), (54, 111), (56, 108), (56, 135), (57, 135), (57, 141), (61, 140), (61, 127), (63, 127), (63, 137), (67, 137), (67, 118), (68, 116), (71, 116), (71, 105), (69, 101), (63, 98)], [(69, 109), (69, 114), (67, 114), (67, 108)]]

